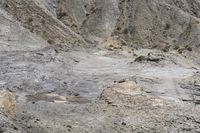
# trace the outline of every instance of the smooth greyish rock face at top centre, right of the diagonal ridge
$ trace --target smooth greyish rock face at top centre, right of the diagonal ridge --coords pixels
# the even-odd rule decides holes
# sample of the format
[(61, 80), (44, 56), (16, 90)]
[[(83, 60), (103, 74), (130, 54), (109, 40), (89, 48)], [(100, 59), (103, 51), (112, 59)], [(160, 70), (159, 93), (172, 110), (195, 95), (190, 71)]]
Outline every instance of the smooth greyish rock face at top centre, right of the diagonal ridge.
[(108, 37), (120, 15), (118, 0), (61, 0), (58, 18), (83, 35)]

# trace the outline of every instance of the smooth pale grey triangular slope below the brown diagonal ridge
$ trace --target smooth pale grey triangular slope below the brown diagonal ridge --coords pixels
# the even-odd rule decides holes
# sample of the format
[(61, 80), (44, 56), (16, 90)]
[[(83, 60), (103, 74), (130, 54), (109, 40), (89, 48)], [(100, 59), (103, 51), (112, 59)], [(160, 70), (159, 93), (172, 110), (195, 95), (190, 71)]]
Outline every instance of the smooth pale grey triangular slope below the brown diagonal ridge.
[(45, 47), (40, 36), (31, 33), (5, 10), (0, 9), (0, 51), (31, 51)]

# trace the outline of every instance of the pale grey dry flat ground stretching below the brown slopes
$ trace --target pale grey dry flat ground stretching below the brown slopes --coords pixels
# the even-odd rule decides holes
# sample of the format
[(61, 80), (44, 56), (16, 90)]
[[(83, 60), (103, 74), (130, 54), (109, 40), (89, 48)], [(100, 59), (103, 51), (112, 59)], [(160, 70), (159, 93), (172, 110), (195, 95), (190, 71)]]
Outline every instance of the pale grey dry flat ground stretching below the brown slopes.
[(16, 94), (17, 117), (2, 116), (1, 131), (200, 131), (199, 68), (191, 60), (175, 51), (88, 51), (2, 52), (0, 85)]

